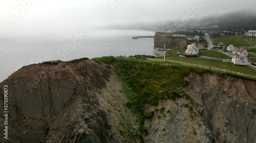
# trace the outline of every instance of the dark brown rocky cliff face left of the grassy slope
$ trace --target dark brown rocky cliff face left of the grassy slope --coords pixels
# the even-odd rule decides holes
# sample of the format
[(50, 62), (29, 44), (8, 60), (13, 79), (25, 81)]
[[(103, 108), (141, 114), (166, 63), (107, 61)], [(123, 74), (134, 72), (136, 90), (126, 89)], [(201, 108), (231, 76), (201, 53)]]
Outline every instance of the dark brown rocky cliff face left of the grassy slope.
[[(9, 89), (8, 140), (0, 142), (138, 142), (125, 132), (136, 119), (124, 107), (116, 74), (103, 64), (84, 60), (30, 65), (0, 83)], [(1, 123), (4, 121), (0, 117)], [(0, 128), (3, 132), (4, 125)]]

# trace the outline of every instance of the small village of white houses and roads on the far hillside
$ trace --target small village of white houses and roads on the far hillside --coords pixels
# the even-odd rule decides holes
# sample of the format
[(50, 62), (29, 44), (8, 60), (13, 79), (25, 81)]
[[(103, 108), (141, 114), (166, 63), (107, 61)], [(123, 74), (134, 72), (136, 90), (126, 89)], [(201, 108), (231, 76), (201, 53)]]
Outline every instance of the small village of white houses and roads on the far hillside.
[[(201, 33), (201, 37), (196, 35), (196, 36), (191, 36), (191, 35), (184, 35), (183, 31), (175, 31), (172, 28), (163, 28), (162, 31), (160, 31), (161, 33), (167, 33), (172, 35), (172, 37), (183, 37), (186, 38), (188, 40), (188, 45), (186, 47), (186, 50), (184, 51), (184, 53), (182, 51), (176, 51), (176, 55), (179, 55), (180, 57), (195, 57), (198, 58), (201, 56), (201, 51), (204, 50), (214, 50), (214, 51), (218, 51), (220, 55), (227, 55), (230, 58), (226, 58), (226, 59), (220, 59), (222, 60), (222, 62), (224, 63), (232, 63), (234, 65), (238, 65), (238, 66), (250, 66), (253, 68), (256, 68), (256, 45), (253, 45), (251, 43), (251, 41), (246, 41), (247, 39), (245, 39), (245, 41), (251, 42), (249, 43), (250, 46), (246, 46), (246, 47), (242, 47), (241, 45), (234, 45), (229, 43), (227, 45), (227, 42), (218, 42), (218, 40), (214, 39), (215, 35), (220, 35), (221, 36), (226, 36), (225, 34), (229, 34), (230, 32), (228, 31), (223, 31), (223, 33), (217, 33), (217, 32), (209, 32), (209, 33)], [(195, 31), (194, 31), (195, 32)], [(198, 33), (200, 33), (200, 31), (196, 31)], [(189, 33), (189, 32), (186, 32)], [(253, 40), (255, 40), (256, 38), (256, 31), (248, 31), (246, 33), (244, 33), (244, 35), (239, 35), (239, 33), (233, 33), (234, 36), (233, 37), (241, 37), (242, 38), (250, 38)], [(227, 37), (227, 36), (226, 36)], [(232, 36), (230, 36), (230, 38), (233, 38)], [(228, 38), (226, 38), (228, 39)], [(226, 39), (223, 39), (223, 41), (225, 41)], [(237, 40), (238, 41), (238, 40)], [(192, 44), (189, 44), (193, 42)], [(204, 43), (202, 43), (204, 42)], [(217, 44), (216, 44), (217, 43)], [(247, 51), (247, 49), (252, 49), (254, 48), (252, 51)], [(250, 55), (250, 57), (248, 57), (248, 55)], [(202, 56), (201, 58), (205, 58), (205, 59), (212, 59), (212, 60), (217, 60), (217, 58), (214, 58), (210, 55), (206, 56)]]

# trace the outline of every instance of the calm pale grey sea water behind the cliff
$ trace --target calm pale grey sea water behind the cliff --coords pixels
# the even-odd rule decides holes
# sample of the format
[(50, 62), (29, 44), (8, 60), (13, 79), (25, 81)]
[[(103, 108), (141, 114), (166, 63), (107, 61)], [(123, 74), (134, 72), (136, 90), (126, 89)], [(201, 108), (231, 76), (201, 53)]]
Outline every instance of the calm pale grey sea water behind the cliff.
[(45, 61), (69, 61), (106, 55), (156, 55), (154, 39), (133, 36), (154, 36), (138, 30), (84, 30), (34, 35), (0, 36), (0, 82), (13, 72), (30, 64)]

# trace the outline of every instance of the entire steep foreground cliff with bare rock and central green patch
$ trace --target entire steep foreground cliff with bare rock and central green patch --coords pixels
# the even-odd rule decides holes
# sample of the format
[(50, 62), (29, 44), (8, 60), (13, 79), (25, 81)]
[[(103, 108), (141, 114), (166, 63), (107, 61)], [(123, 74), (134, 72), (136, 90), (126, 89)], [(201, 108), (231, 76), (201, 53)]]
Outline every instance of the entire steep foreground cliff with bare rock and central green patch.
[(34, 64), (0, 83), (2, 113), (9, 91), (9, 139), (0, 142), (256, 141), (255, 81), (105, 59)]

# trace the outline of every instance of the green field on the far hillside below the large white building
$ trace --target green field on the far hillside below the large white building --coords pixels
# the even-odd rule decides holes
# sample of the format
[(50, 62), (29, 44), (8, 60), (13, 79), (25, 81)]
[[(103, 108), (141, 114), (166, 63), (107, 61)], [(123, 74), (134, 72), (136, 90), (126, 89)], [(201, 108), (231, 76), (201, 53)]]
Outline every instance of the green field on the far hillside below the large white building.
[(212, 41), (214, 41), (215, 44), (219, 44), (220, 42), (223, 42), (224, 45), (234, 45), (234, 46), (245, 46), (245, 47), (253, 47), (256, 45), (256, 38), (252, 37), (243, 37), (243, 36), (235, 36), (228, 38), (226, 35), (213, 37)]

